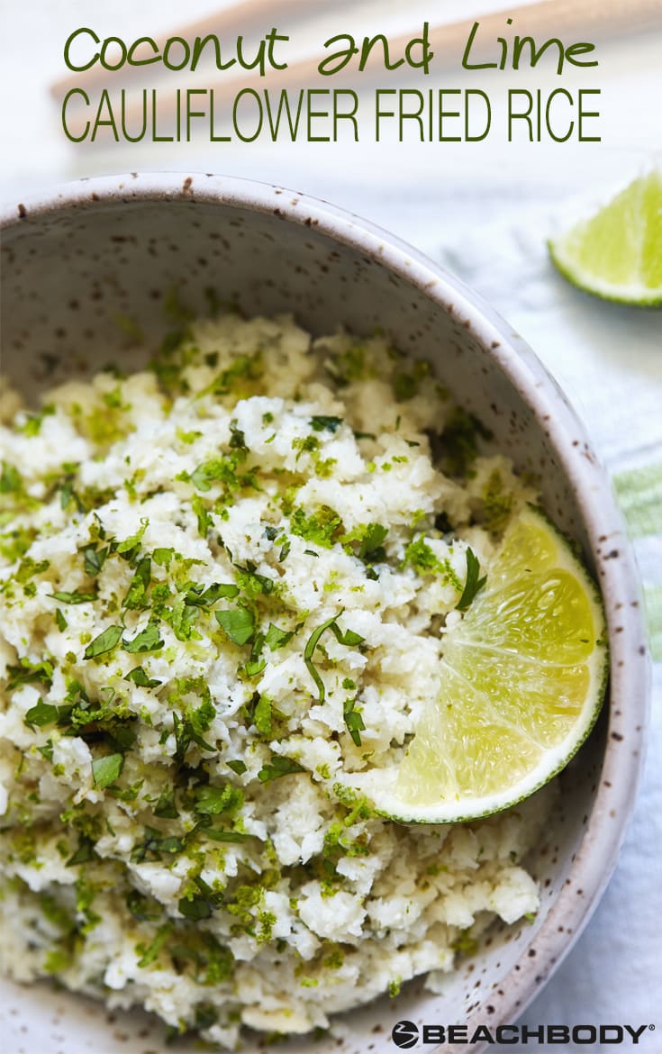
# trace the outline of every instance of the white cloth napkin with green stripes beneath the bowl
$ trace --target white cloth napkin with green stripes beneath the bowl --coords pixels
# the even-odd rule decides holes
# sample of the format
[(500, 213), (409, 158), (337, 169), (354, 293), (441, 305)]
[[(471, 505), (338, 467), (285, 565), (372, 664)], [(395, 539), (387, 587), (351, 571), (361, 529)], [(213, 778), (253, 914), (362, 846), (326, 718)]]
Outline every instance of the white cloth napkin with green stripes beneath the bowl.
[[(522, 202), (502, 204), (503, 221), (488, 220), (469, 236), (466, 226), (456, 237), (451, 229), (437, 258), (528, 340), (583, 419), (629, 528), (654, 657), (648, 761), (619, 863), (584, 935), (523, 1020), (533, 1028), (638, 1027), (657, 1019), (659, 1029), (654, 993), (662, 915), (662, 312), (605, 304), (575, 290), (548, 259), (553, 216)], [(557, 1048), (537, 1050), (553, 1054)]]

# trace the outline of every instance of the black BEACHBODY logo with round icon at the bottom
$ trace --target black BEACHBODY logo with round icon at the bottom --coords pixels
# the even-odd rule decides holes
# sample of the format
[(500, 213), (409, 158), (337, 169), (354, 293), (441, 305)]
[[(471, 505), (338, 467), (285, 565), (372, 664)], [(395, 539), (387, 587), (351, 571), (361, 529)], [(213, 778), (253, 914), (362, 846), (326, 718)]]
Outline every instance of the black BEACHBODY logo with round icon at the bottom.
[(596, 1043), (639, 1045), (645, 1032), (654, 1032), (655, 1024), (539, 1024), (532, 1029), (527, 1024), (500, 1024), (494, 1029), (479, 1024), (472, 1033), (466, 1024), (424, 1024), (421, 1029), (413, 1021), (398, 1021), (393, 1026), (391, 1039), (401, 1050), (411, 1050), (423, 1043), (492, 1043), (497, 1047), (511, 1047), (513, 1043), (559, 1043), (569, 1042), (590, 1047)]

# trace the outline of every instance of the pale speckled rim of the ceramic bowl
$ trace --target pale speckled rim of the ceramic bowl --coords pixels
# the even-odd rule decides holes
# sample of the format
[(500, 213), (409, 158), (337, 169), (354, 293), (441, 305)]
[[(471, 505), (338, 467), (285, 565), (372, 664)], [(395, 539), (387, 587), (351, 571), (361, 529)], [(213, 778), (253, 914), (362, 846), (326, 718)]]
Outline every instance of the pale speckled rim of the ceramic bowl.
[[(483, 298), (439, 264), (375, 223), (284, 187), (214, 173), (149, 172), (93, 176), (0, 206), (0, 229), (30, 228), (33, 216), (63, 210), (179, 201), (213, 203), (313, 227), (379, 262), (450, 312), (506, 374), (543, 426), (576, 494), (607, 613), (610, 689), (607, 745), (591, 823), (565, 885), (540, 928), (489, 995), (489, 1023), (512, 1022), (551, 977), (590, 919), (616, 866), (641, 779), (649, 718), (650, 668), (641, 591), (624, 522), (606, 472), (565, 393), (526, 341)], [(618, 705), (617, 705), (618, 704)], [(562, 926), (562, 930), (560, 930)], [(486, 997), (487, 998), (487, 997)], [(485, 1002), (485, 999), (483, 1000)], [(485, 1015), (472, 1010), (465, 1023)], [(473, 1054), (484, 1045), (457, 1048)], [(441, 1050), (441, 1048), (439, 1048)]]

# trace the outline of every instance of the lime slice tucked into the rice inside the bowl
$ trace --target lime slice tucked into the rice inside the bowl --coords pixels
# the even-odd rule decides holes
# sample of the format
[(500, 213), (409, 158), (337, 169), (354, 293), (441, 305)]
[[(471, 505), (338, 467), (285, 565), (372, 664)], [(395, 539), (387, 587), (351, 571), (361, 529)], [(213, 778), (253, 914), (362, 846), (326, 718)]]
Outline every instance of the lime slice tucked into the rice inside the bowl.
[(444, 638), (441, 691), (404, 758), (357, 774), (353, 786), (410, 823), (497, 813), (567, 764), (598, 717), (606, 676), (598, 590), (565, 539), (526, 508)]

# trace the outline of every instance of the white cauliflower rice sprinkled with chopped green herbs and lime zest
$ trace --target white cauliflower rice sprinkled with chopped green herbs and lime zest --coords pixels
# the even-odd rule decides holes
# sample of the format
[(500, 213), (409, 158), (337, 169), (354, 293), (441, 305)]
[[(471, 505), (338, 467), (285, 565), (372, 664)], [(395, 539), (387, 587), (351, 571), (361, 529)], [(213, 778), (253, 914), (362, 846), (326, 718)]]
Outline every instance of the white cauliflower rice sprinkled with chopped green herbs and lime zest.
[(536, 912), (547, 792), (414, 827), (340, 780), (404, 754), (467, 550), (534, 497), (425, 364), (229, 314), (3, 406), (5, 973), (233, 1048)]

